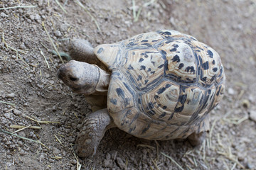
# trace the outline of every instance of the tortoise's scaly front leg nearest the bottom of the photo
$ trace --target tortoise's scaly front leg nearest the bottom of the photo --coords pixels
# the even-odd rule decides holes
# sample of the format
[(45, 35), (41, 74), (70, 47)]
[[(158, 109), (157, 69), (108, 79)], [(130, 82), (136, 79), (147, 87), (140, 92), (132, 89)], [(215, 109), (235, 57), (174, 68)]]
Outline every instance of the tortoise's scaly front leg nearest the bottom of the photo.
[(89, 157), (96, 153), (106, 130), (114, 128), (114, 122), (107, 108), (88, 115), (82, 122), (82, 130), (75, 141), (75, 152), (79, 157)]

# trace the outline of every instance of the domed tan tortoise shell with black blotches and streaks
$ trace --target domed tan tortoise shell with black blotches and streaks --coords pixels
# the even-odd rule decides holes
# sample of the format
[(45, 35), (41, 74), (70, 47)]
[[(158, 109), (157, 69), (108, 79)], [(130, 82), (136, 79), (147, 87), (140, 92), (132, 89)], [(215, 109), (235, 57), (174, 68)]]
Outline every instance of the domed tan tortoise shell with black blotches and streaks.
[(112, 72), (107, 109), (118, 128), (148, 140), (209, 130), (223, 97), (220, 56), (175, 30), (159, 30), (95, 48)]

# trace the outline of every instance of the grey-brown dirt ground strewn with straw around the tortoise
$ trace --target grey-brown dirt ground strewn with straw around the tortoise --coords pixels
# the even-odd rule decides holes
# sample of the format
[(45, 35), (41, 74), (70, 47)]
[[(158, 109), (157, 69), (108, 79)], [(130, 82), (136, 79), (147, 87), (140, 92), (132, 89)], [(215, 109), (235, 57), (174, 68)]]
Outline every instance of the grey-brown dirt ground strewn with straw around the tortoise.
[[(255, 0), (81, 2), (0, 0), (0, 169), (256, 169)], [(72, 145), (92, 111), (56, 77), (63, 63), (53, 50), (68, 52), (73, 38), (96, 46), (160, 29), (193, 35), (222, 58), (227, 90), (206, 140), (193, 148), (114, 128), (95, 157), (77, 159)]]

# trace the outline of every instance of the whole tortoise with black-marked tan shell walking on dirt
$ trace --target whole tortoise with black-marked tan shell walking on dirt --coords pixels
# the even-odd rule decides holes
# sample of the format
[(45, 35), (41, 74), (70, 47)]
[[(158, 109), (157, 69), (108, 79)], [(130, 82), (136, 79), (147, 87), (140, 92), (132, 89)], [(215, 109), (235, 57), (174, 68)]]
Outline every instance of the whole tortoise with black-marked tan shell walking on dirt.
[(220, 56), (191, 35), (157, 30), (93, 49), (70, 43), (73, 59), (58, 78), (95, 108), (75, 141), (80, 157), (93, 156), (106, 130), (117, 127), (146, 140), (188, 138), (200, 144), (209, 112), (225, 90)]

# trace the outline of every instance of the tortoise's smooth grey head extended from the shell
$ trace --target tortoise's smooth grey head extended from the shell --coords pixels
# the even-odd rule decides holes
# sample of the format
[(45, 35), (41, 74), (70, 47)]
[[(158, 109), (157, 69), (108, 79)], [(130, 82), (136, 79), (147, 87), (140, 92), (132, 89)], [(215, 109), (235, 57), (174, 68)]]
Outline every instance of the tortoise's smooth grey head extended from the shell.
[(99, 67), (86, 62), (71, 60), (58, 69), (58, 78), (77, 94), (95, 93), (100, 81)]

